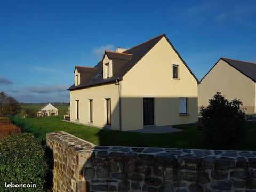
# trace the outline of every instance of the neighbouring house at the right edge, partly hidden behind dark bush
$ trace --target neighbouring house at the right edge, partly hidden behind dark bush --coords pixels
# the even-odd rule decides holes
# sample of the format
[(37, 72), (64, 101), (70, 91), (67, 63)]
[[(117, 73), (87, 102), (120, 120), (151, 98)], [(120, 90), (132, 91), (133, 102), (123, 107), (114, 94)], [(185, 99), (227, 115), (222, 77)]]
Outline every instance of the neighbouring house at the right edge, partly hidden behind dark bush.
[(198, 85), (198, 106), (207, 106), (216, 92), (243, 102), (248, 114), (256, 113), (256, 63), (220, 58)]

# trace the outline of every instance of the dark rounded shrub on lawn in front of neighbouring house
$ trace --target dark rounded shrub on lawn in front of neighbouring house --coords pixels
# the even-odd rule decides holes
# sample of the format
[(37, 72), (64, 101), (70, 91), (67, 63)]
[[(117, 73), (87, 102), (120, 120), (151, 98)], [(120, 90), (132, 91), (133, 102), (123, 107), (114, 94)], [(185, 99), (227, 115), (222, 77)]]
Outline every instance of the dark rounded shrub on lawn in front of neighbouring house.
[(247, 130), (247, 116), (243, 103), (234, 99), (228, 101), (217, 92), (209, 105), (200, 107), (202, 117), (197, 122), (197, 130), (206, 142), (214, 147), (237, 146), (243, 140)]

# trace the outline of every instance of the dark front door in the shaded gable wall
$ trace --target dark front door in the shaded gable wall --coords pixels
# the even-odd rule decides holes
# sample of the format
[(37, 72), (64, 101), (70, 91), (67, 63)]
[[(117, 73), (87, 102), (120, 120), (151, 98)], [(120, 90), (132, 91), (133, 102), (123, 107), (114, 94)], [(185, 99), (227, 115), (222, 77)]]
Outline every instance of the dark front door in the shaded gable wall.
[(144, 125), (154, 125), (154, 98), (143, 98)]

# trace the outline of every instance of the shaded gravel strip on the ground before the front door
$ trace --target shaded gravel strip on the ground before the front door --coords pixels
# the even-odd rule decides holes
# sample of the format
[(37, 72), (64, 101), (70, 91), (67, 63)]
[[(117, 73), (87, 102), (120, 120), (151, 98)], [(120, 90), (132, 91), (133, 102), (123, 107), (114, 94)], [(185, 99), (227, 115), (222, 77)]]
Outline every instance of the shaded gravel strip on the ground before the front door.
[(145, 129), (132, 130), (129, 132), (135, 133), (174, 133), (183, 131), (182, 129), (173, 128), (171, 125), (158, 126), (158, 127), (147, 127)]

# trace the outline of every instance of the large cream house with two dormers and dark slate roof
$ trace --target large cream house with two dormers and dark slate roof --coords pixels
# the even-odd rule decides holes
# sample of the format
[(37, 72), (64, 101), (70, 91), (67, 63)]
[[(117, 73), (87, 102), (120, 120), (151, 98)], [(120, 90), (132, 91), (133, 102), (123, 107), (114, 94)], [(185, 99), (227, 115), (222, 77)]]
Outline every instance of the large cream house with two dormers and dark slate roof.
[(197, 78), (165, 34), (76, 66), (70, 121), (137, 130), (197, 121)]

